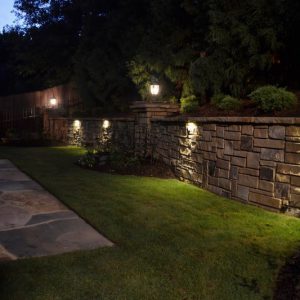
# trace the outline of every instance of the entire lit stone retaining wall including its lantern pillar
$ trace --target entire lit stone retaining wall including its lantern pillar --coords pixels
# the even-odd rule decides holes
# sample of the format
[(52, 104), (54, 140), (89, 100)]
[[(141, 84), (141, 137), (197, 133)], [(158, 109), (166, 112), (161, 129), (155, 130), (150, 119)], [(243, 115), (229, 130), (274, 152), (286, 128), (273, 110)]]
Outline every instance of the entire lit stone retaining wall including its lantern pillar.
[(300, 215), (300, 118), (174, 117), (168, 104), (138, 103), (134, 118), (45, 118), (53, 140), (134, 150), (179, 179), (246, 203)]

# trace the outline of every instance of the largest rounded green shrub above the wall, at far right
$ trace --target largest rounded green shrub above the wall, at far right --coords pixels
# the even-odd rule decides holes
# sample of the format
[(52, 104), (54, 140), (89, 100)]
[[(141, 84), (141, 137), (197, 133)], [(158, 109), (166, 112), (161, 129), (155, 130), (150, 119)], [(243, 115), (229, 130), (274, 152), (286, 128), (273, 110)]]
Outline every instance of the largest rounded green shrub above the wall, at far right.
[(249, 97), (264, 112), (287, 110), (297, 104), (297, 97), (294, 93), (272, 85), (256, 89)]

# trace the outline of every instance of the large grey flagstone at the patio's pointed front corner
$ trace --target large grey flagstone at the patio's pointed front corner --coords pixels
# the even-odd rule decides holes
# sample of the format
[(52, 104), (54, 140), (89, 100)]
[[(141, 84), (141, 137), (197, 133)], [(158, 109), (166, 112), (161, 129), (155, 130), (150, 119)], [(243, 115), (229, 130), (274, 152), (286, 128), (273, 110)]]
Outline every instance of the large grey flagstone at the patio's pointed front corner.
[(19, 258), (113, 245), (80, 218), (1, 231), (0, 244)]

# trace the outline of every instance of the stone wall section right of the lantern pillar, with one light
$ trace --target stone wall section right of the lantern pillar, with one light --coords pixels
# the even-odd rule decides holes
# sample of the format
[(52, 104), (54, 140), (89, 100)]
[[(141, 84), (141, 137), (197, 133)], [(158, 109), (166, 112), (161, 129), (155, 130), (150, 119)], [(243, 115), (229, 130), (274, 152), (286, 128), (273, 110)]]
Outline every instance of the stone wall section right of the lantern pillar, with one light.
[(299, 124), (299, 118), (156, 118), (151, 141), (180, 179), (291, 211), (300, 208)]

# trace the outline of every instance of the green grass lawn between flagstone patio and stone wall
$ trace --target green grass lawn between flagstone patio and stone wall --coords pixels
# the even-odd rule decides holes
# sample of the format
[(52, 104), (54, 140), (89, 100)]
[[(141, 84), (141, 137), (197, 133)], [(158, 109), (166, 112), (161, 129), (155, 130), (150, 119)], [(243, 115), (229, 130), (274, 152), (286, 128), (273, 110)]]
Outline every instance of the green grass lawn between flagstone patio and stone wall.
[(101, 174), (83, 150), (0, 148), (116, 246), (0, 266), (0, 299), (271, 299), (300, 220), (177, 180)]

